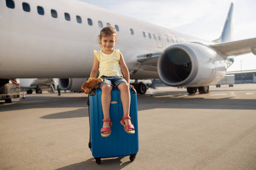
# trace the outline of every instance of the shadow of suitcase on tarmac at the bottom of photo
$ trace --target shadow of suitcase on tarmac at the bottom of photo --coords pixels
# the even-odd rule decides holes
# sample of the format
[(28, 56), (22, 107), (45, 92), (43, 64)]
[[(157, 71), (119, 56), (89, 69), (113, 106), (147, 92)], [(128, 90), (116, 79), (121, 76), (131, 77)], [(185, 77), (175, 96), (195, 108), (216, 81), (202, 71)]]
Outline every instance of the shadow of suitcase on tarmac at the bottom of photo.
[(87, 161), (82, 161), (76, 164), (71, 164), (66, 167), (61, 167), (56, 170), (121, 170), (126, 167), (132, 161), (122, 162), (124, 156), (115, 159), (102, 159), (101, 164), (96, 164), (94, 158), (90, 158)]

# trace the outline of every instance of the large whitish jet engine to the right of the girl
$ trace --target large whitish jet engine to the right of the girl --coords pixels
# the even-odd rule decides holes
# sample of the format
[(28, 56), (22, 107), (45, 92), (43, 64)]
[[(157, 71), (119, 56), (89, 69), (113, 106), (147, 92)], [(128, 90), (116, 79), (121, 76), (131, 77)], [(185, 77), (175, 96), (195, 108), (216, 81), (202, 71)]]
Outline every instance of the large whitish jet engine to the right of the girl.
[(214, 49), (198, 43), (166, 48), (157, 62), (160, 79), (174, 87), (214, 85), (226, 74), (227, 60)]

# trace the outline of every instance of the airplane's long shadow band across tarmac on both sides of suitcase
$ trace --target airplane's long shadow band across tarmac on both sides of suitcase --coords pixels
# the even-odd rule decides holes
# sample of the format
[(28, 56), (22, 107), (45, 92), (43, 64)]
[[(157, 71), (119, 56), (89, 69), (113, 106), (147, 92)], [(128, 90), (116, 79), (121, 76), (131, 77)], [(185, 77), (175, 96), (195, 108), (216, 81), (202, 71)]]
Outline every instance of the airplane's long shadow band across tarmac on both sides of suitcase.
[[(191, 108), (191, 109), (241, 109), (256, 110), (256, 99), (236, 99), (233, 97), (210, 98), (208, 94), (163, 94), (160, 96), (138, 95), (138, 111), (155, 108)], [(10, 105), (0, 105), (1, 111), (16, 111), (30, 108), (79, 108), (73, 111), (54, 113), (41, 117), (42, 119), (63, 119), (87, 117), (87, 97), (26, 97), (20, 102)]]

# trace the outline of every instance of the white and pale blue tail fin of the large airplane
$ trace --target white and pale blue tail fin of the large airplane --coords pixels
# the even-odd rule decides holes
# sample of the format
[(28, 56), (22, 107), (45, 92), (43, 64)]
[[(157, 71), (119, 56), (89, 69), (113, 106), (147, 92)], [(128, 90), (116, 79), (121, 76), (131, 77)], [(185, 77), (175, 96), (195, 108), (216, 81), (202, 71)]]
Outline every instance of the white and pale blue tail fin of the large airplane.
[(217, 40), (214, 40), (213, 42), (215, 43), (220, 43), (220, 42), (228, 42), (233, 39), (233, 8), (234, 4), (231, 3), (230, 9), (227, 14), (227, 19), (225, 21), (221, 37), (219, 37)]

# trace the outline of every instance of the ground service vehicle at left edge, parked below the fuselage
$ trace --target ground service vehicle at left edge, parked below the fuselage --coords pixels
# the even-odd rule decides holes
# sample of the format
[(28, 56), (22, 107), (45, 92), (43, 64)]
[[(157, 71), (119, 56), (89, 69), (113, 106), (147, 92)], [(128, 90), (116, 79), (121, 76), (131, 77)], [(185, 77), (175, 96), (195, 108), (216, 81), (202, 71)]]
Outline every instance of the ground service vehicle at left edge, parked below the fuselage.
[(0, 100), (11, 103), (14, 98), (20, 98), (19, 79), (0, 79)]

